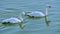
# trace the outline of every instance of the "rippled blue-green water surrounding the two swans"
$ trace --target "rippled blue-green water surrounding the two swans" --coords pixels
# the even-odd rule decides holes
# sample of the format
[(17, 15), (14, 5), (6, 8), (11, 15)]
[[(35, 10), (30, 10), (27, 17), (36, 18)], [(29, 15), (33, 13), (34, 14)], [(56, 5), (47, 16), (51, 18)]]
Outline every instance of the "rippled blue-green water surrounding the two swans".
[(0, 24), (0, 34), (60, 34), (60, 0), (0, 0), (0, 23), (3, 19), (18, 17), (22, 11), (45, 13), (46, 4), (52, 6), (48, 12), (50, 26), (46, 25), (44, 18), (27, 18), (23, 30), (18, 25)]

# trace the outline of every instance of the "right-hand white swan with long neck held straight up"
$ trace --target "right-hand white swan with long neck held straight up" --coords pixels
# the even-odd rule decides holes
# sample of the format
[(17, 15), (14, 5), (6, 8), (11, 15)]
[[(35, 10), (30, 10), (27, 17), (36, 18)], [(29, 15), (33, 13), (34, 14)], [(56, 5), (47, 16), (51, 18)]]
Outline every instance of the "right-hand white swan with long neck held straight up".
[(46, 5), (46, 12), (45, 14), (39, 11), (33, 11), (33, 12), (22, 12), (23, 15), (27, 15), (29, 17), (44, 17), (47, 16), (48, 8), (51, 8), (50, 5)]

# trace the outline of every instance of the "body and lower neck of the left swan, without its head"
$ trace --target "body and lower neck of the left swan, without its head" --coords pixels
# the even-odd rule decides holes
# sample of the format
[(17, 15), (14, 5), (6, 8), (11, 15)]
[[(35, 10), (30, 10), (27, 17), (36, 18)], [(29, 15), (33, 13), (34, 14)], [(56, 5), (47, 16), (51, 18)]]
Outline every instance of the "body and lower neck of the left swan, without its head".
[(11, 18), (2, 20), (3, 24), (5, 24), (5, 23), (20, 23), (20, 22), (23, 22), (22, 16), (20, 16), (19, 19), (11, 17)]

